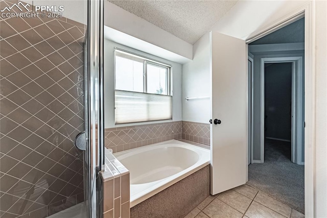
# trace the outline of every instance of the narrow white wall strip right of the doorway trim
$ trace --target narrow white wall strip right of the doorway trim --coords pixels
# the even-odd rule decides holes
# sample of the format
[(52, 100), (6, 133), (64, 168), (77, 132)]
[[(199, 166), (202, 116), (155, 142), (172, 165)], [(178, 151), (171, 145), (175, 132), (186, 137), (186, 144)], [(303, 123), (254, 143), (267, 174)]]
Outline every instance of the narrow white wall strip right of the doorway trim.
[(315, 1), (315, 213), (327, 217), (327, 2)]

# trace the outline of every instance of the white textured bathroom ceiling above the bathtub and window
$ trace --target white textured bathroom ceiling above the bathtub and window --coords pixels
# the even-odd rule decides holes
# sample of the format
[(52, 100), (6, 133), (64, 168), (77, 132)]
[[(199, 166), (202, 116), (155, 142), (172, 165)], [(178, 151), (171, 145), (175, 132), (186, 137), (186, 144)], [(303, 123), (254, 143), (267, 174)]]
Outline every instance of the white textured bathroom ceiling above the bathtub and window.
[(237, 3), (221, 0), (108, 1), (192, 45)]

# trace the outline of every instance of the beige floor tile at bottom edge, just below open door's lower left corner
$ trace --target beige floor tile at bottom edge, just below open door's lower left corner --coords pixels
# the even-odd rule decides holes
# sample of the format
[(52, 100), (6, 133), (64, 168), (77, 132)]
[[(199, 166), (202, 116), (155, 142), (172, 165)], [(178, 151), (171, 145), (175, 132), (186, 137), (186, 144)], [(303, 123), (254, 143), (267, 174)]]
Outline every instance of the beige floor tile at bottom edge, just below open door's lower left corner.
[(243, 216), (242, 213), (217, 198), (208, 204), (203, 209), (203, 212), (211, 218), (241, 218)]

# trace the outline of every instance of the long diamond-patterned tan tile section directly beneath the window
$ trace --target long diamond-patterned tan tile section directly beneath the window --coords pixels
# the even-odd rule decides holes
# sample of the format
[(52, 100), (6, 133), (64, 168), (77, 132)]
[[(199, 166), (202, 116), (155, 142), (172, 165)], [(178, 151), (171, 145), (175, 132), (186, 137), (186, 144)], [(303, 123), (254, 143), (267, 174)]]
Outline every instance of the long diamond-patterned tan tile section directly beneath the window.
[(106, 128), (105, 146), (119, 152), (181, 137), (182, 121)]

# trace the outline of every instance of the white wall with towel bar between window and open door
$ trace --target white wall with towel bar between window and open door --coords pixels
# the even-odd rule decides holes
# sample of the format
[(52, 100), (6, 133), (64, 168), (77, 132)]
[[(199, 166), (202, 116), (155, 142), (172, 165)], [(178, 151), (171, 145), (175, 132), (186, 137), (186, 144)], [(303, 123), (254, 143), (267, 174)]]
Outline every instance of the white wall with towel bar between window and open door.
[(210, 96), (209, 33), (193, 45), (193, 60), (183, 64), (182, 115), (184, 121), (208, 123), (210, 99), (186, 101), (186, 97)]

